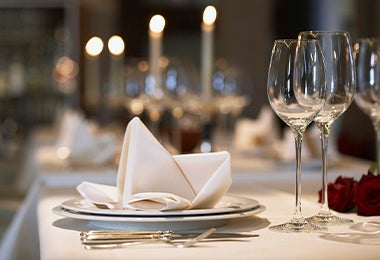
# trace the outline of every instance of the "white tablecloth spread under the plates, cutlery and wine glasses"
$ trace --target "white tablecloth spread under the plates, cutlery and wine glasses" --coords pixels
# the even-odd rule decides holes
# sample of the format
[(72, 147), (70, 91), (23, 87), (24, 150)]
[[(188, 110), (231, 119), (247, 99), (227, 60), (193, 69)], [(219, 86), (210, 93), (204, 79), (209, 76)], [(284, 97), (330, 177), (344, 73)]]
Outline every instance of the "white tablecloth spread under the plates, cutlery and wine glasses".
[[(309, 167), (310, 166), (310, 167)], [(318, 210), (320, 169), (305, 164), (303, 170), (302, 207), (305, 216)], [(337, 175), (356, 176), (365, 173), (367, 162), (344, 158), (329, 170), (331, 180)], [(233, 159), (233, 185), (230, 192), (258, 200), (266, 210), (257, 216), (231, 220), (218, 227), (220, 232), (252, 232), (259, 237), (244, 242), (207, 242), (197, 247), (176, 249), (165, 245), (140, 245), (114, 250), (85, 250), (79, 231), (89, 223), (62, 218), (52, 212), (61, 202), (78, 197), (75, 186), (83, 180), (113, 183), (116, 171), (107, 169), (72, 169), (44, 171), (20, 209), (18, 221), (0, 249), (1, 259), (378, 259), (377, 245), (357, 244), (329, 239), (318, 233), (284, 234), (268, 226), (291, 218), (294, 209), (294, 170), (292, 165), (276, 165), (259, 159)], [(380, 221), (380, 217), (344, 214), (356, 222)], [(33, 230), (38, 228), (38, 233)], [(349, 226), (331, 228), (330, 233), (355, 233)], [(370, 243), (370, 241), (366, 242)], [(29, 248), (29, 249), (28, 249)], [(31, 249), (32, 248), (32, 249)], [(39, 248), (39, 251), (36, 250)], [(37, 251), (37, 252), (36, 252)]]

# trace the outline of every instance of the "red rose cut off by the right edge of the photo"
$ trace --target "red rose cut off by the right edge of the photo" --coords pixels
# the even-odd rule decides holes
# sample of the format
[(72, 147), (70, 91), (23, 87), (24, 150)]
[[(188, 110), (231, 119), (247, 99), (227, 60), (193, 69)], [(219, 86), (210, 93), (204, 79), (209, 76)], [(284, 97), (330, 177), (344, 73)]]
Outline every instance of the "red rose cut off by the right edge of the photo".
[(380, 175), (368, 173), (360, 179), (354, 197), (358, 215), (380, 215)]

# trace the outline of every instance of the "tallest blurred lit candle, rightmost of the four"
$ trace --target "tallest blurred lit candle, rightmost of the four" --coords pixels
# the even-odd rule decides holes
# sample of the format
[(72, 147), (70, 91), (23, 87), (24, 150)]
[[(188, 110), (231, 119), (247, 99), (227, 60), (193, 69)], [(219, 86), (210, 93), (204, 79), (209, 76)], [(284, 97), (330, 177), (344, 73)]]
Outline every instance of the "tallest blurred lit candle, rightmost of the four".
[(201, 88), (203, 101), (212, 96), (212, 72), (214, 64), (214, 23), (216, 9), (209, 5), (203, 11), (202, 46), (201, 46)]

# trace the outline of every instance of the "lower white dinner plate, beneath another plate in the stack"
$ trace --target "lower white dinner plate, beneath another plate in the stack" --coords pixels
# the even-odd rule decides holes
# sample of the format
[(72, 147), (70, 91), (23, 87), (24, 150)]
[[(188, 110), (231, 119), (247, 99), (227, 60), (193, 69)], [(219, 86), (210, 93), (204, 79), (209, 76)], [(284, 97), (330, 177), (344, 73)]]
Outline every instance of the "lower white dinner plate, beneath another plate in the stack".
[(265, 210), (263, 205), (234, 213), (187, 215), (187, 216), (137, 216), (137, 215), (97, 215), (80, 213), (57, 206), (57, 215), (88, 220), (90, 225), (103, 229), (119, 230), (194, 230), (225, 225), (229, 220), (259, 214)]

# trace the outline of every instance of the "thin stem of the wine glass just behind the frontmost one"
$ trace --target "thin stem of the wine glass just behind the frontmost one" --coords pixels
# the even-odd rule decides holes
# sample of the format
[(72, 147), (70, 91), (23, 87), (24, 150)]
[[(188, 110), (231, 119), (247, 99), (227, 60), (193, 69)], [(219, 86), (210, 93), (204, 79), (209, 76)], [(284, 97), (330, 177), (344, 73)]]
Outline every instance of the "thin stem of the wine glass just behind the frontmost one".
[(321, 211), (329, 211), (327, 196), (327, 147), (329, 141), (329, 128), (322, 125), (321, 130), (321, 147), (322, 147), (322, 204)]

